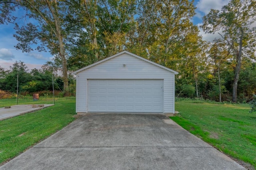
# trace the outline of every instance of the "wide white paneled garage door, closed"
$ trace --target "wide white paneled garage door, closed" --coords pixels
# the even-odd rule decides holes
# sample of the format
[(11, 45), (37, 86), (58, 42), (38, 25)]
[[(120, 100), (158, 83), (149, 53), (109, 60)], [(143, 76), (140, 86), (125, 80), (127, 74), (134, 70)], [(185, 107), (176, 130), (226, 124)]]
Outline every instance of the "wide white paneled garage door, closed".
[(88, 112), (163, 112), (164, 80), (88, 80)]

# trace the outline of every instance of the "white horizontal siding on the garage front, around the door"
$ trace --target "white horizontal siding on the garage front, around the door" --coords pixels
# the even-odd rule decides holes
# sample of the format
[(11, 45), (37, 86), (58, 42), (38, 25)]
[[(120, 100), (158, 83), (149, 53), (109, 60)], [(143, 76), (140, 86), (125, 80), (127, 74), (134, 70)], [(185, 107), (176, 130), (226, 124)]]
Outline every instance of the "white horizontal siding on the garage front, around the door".
[(76, 79), (76, 112), (87, 112), (88, 79), (164, 79), (164, 113), (174, 113), (174, 73), (127, 53), (79, 72)]

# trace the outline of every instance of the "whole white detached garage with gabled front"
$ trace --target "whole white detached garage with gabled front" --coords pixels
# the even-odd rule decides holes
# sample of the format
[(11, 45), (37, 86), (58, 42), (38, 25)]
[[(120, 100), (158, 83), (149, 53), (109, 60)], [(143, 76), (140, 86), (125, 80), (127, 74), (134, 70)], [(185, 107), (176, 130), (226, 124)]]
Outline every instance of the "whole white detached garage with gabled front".
[(123, 51), (76, 74), (76, 112), (174, 113), (178, 72)]

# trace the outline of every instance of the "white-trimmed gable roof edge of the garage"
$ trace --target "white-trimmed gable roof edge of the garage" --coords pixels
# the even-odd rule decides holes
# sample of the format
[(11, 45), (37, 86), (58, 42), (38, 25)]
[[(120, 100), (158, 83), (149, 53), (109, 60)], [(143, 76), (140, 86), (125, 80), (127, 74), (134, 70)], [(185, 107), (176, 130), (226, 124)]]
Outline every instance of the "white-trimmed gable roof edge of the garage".
[(90, 65), (88, 65), (88, 66), (86, 66), (86, 67), (83, 67), (83, 68), (80, 68), (79, 70), (74, 71), (73, 74), (77, 74), (77, 73), (79, 73), (79, 72), (81, 72), (81, 71), (84, 71), (84, 70), (86, 70), (86, 69), (88, 69), (88, 68), (91, 68), (91, 67), (93, 67), (93, 66), (96, 66), (96, 65), (98, 65), (98, 64), (100, 64), (100, 63), (103, 63), (103, 62), (105, 62), (105, 61), (108, 61), (108, 60), (110, 60), (110, 59), (113, 59), (113, 58), (115, 58), (115, 57), (117, 57), (117, 56), (119, 56), (119, 55), (122, 55), (122, 54), (124, 54), (124, 53), (126, 53), (126, 54), (128, 54), (128, 55), (131, 55), (131, 56), (133, 56), (133, 57), (136, 57), (136, 58), (138, 58), (138, 59), (141, 59), (141, 60), (143, 60), (143, 61), (146, 61), (146, 62), (148, 62), (148, 63), (150, 63), (150, 64), (153, 64), (153, 65), (155, 65), (155, 66), (158, 66), (158, 67), (160, 67), (160, 68), (163, 68), (163, 69), (165, 69), (165, 70), (168, 70), (168, 71), (170, 71), (170, 72), (172, 72), (172, 73), (174, 73), (174, 74), (178, 74), (177, 71), (174, 71), (174, 70), (172, 70), (172, 69), (170, 69), (170, 68), (167, 68), (167, 67), (162, 66), (162, 65), (160, 65), (160, 64), (157, 64), (157, 63), (155, 63), (155, 62), (153, 62), (153, 61), (150, 61), (150, 60), (148, 60), (148, 59), (145, 59), (145, 58), (143, 58), (143, 57), (140, 57), (140, 56), (138, 56), (138, 55), (136, 55), (136, 54), (134, 54), (134, 53), (130, 53), (129, 51), (122, 51), (122, 52), (120, 52), (120, 53), (117, 53), (117, 54), (115, 54), (115, 55), (112, 55), (112, 56), (110, 56), (110, 57), (107, 57), (106, 59), (97, 61), (96, 63), (90, 64)]

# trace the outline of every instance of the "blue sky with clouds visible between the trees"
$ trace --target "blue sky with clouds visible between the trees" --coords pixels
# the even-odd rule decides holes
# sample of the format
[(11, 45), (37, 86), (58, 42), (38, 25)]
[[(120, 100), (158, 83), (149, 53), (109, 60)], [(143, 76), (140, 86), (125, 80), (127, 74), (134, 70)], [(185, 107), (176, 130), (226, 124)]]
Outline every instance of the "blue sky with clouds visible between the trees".
[[(202, 25), (202, 17), (207, 15), (210, 9), (220, 10), (228, 2), (229, 0), (195, 0), (196, 15), (192, 22), (194, 25)], [(0, 66), (2, 68), (9, 69), (15, 61), (23, 61), (30, 70), (33, 68), (40, 69), (44, 63), (52, 61), (53, 56), (47, 52), (22, 53), (21, 50), (16, 50), (14, 46), (17, 45), (18, 41), (13, 37), (13, 34), (15, 34), (13, 24), (0, 25)], [(200, 30), (200, 34), (204, 40), (208, 41), (218, 38), (218, 34), (204, 34), (202, 30)]]

